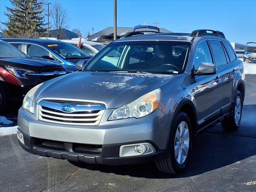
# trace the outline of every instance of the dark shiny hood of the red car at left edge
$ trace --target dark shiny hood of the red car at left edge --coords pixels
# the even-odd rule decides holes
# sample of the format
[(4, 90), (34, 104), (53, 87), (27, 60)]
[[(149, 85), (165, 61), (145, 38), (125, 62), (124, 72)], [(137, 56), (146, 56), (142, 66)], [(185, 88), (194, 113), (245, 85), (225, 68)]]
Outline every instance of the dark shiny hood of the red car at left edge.
[(42, 68), (48, 67), (62, 67), (55, 61), (41, 59), (41, 58), (0, 58), (1, 64), (5, 66), (12, 66), (40, 72)]

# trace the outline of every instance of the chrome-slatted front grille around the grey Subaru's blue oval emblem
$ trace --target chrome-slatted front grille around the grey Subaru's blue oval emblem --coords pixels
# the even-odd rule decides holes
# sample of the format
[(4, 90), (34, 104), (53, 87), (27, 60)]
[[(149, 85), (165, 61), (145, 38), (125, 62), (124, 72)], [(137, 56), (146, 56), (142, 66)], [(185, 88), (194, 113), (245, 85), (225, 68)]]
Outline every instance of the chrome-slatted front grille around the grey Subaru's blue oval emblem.
[[(64, 105), (75, 107), (74, 112), (64, 112), (61, 110)], [(86, 103), (76, 104), (74, 102), (54, 102), (42, 100), (38, 105), (38, 118), (46, 122), (70, 125), (98, 125), (106, 107), (104, 104)]]

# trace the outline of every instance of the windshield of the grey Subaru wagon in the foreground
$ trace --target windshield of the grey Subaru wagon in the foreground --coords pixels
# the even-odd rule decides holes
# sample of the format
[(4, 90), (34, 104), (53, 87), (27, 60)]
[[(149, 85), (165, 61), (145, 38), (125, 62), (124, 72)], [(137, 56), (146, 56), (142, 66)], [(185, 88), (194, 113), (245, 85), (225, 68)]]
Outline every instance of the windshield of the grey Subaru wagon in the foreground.
[(114, 42), (84, 67), (86, 70), (180, 74), (185, 69), (190, 42)]

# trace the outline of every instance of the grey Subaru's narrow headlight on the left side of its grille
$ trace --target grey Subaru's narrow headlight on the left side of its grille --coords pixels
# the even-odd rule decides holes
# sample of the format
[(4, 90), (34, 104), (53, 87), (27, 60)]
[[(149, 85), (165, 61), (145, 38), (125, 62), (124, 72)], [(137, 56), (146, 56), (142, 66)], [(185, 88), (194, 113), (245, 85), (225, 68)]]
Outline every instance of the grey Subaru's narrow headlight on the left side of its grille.
[(34, 114), (34, 108), (35, 108), (35, 102), (34, 102), (34, 94), (36, 92), (36, 90), (38, 90), (38, 88), (42, 85), (38, 84), (37, 86), (33, 87), (32, 89), (30, 89), (30, 91), (26, 94), (26, 96), (23, 99), (23, 104), (22, 107), (25, 110), (28, 110), (30, 113)]

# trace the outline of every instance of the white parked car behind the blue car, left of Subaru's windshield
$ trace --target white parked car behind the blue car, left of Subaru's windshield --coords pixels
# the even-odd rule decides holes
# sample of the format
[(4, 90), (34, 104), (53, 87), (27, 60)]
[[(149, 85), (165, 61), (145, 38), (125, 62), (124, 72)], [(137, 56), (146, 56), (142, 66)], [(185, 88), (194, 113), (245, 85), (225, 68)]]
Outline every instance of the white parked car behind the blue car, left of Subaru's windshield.
[[(72, 40), (60, 40), (66, 43), (70, 43), (74, 46), (77, 46), (79, 42), (79, 38), (72, 39)], [(102, 50), (106, 45), (97, 43), (97, 42), (92, 42), (92, 41), (84, 41), (82, 40), (82, 45), (80, 49), (82, 49), (84, 52), (86, 52), (90, 56), (96, 55), (100, 50)]]

